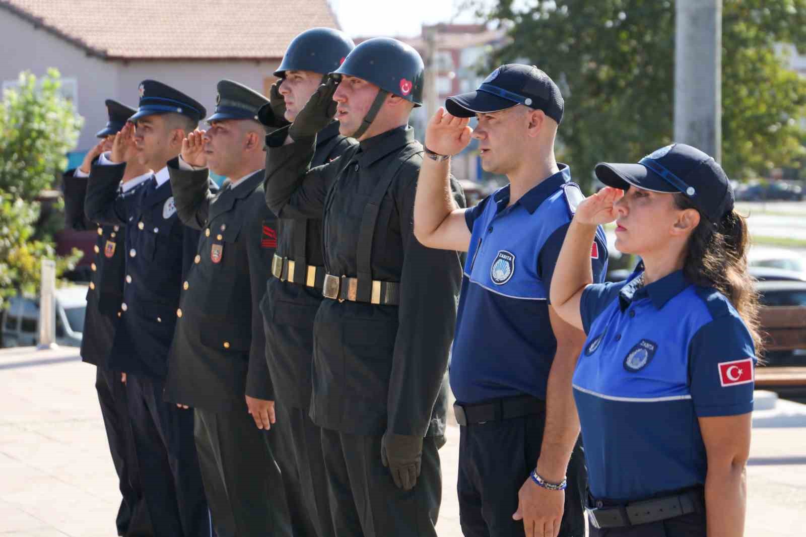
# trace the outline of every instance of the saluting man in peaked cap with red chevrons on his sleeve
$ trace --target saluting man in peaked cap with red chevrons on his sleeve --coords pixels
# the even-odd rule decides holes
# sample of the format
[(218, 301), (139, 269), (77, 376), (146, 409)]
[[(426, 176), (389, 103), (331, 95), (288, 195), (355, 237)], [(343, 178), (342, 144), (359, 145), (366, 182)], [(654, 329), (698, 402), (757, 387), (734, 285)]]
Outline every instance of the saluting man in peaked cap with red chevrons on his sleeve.
[[(263, 190), (266, 131), (257, 121), (266, 103), (238, 82), (219, 81), (210, 127), (188, 135), (181, 156), (168, 161), (179, 219), (202, 237), (182, 285), (165, 399), (195, 409), (218, 537), (293, 533), (270, 447), (274, 394), (259, 309), (276, 247)], [(208, 168), (227, 177), (217, 194)]]

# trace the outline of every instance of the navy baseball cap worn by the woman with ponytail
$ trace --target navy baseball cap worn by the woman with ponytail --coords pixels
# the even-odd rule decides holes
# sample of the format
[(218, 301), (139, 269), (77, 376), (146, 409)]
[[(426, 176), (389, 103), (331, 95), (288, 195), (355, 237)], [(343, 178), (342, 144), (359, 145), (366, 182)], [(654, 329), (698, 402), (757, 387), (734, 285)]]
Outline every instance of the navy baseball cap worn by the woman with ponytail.
[(596, 177), (605, 185), (684, 194), (708, 220), (718, 224), (733, 210), (733, 187), (712, 156), (687, 144), (671, 144), (651, 152), (638, 164), (596, 164)]

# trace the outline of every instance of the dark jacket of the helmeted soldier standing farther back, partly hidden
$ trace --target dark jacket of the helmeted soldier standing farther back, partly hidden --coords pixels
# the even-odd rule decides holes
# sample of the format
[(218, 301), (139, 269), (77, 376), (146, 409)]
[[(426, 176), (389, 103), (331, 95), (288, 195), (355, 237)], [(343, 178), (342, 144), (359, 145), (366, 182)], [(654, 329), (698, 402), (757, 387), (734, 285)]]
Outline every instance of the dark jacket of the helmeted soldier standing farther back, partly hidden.
[[(317, 135), (311, 166), (326, 164), (355, 145), (339, 135), (339, 123), (330, 123)], [(263, 189), (261, 189), (262, 191)], [(279, 221), (277, 255), (296, 261), (294, 281), (305, 281), (305, 266), (323, 267), (322, 219), (283, 218)], [(311, 356), (314, 316), (322, 289), (280, 281), (270, 276), (261, 304), (266, 328), (266, 359), (277, 400), (308, 410), (311, 393)]]

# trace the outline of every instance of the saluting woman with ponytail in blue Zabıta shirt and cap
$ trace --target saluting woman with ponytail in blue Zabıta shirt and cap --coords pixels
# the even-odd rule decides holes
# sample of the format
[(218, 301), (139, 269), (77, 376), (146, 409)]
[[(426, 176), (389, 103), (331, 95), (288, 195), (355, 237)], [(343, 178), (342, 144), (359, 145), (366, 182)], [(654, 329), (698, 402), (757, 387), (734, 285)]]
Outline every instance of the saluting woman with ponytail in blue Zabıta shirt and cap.
[[(592, 537), (743, 535), (760, 343), (747, 223), (713, 158), (671, 144), (597, 164), (551, 301), (588, 334), (573, 395), (588, 460)], [(579, 270), (598, 224), (642, 262), (626, 280)]]

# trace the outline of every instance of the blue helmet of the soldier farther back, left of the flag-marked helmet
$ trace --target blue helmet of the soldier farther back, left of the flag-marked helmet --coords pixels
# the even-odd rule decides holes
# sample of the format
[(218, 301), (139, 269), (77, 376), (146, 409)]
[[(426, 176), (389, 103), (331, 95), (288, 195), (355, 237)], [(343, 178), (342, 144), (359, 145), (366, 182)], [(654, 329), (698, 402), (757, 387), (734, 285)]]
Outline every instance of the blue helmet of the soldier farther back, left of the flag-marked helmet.
[(333, 28), (311, 28), (297, 35), (285, 50), (275, 77), (286, 71), (311, 71), (326, 75), (339, 69), (355, 43), (342, 31)]

